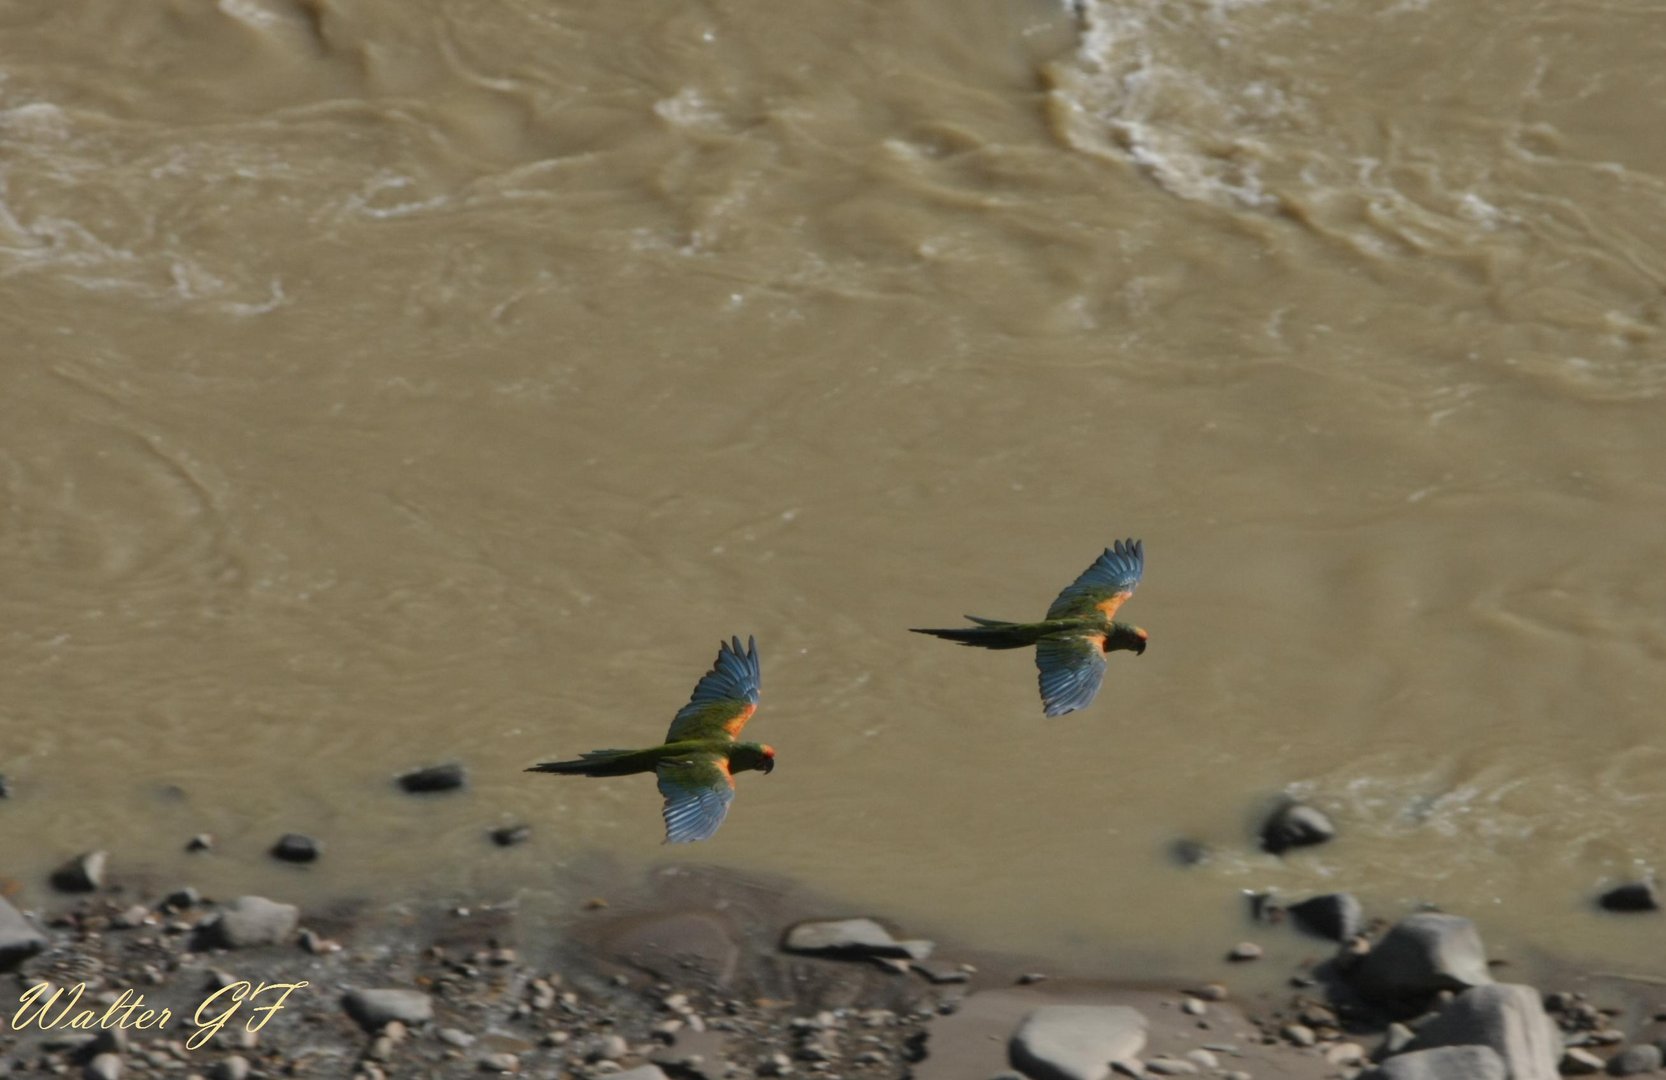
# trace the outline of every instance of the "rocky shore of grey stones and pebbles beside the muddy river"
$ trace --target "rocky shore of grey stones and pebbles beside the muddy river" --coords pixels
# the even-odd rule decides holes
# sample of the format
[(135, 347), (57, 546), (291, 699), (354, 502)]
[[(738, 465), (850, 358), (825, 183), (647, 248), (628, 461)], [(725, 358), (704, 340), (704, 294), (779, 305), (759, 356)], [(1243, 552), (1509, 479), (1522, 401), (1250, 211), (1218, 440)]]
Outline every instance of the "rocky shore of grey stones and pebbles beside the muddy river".
[[(1658, 1072), (1666, 1047), (1666, 985), (1546, 993), (1501, 978), (1468, 918), (1364, 923), (1339, 893), (1258, 898), (1220, 977), (1130, 987), (698, 867), (560, 925), (147, 897), (82, 870), (60, 907), (0, 900), (0, 1077), (1546, 1080)], [(1253, 938), (1284, 933), (1311, 962), (1268, 972)]]

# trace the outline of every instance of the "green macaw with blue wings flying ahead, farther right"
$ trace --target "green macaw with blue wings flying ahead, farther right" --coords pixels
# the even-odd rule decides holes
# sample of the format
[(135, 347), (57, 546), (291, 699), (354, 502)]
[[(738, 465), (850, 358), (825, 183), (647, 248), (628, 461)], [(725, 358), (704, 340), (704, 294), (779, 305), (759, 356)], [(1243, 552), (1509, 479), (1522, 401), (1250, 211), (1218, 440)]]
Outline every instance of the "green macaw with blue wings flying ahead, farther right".
[(1118, 648), (1135, 655), (1145, 653), (1146, 632), (1113, 618), (1116, 608), (1135, 595), (1141, 573), (1145, 573), (1145, 545), (1140, 540), (1118, 540), (1058, 595), (1043, 622), (1011, 623), (968, 615), (966, 618), (978, 623), (976, 627), (915, 630), (915, 633), (930, 633), (978, 648), (1035, 645), (1036, 668), (1041, 672), (1041, 705), (1046, 715), (1063, 717), (1085, 708), (1100, 692), (1105, 653)]

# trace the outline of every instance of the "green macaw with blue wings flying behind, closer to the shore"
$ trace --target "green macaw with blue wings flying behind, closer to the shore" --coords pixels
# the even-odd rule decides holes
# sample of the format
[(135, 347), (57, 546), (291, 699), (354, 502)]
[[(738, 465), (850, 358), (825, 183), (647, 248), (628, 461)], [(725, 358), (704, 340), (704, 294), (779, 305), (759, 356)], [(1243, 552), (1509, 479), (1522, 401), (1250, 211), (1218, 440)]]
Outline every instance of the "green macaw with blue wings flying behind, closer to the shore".
[(545, 762), (526, 772), (580, 777), (626, 777), (651, 772), (665, 795), (665, 842), (708, 840), (735, 800), (735, 773), (775, 772), (775, 748), (736, 742), (758, 712), (758, 642), (718, 643), (718, 658), (695, 685), (688, 705), (676, 710), (665, 743), (648, 750), (591, 750), (576, 762)]

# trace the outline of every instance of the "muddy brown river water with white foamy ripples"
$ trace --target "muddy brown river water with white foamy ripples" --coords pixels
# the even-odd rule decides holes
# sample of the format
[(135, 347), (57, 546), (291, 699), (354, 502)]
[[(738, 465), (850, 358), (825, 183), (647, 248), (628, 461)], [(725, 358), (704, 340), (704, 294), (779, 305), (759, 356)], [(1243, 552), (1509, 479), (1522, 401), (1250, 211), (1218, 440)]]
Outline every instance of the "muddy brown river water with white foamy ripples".
[[(0, 7), (0, 868), (600, 848), (1130, 973), (1348, 888), (1659, 970), (1591, 898), (1666, 862), (1661, 132), (1658, 0)], [(1120, 537), (1086, 712), (906, 633)], [(710, 843), (521, 772), (731, 633)]]

